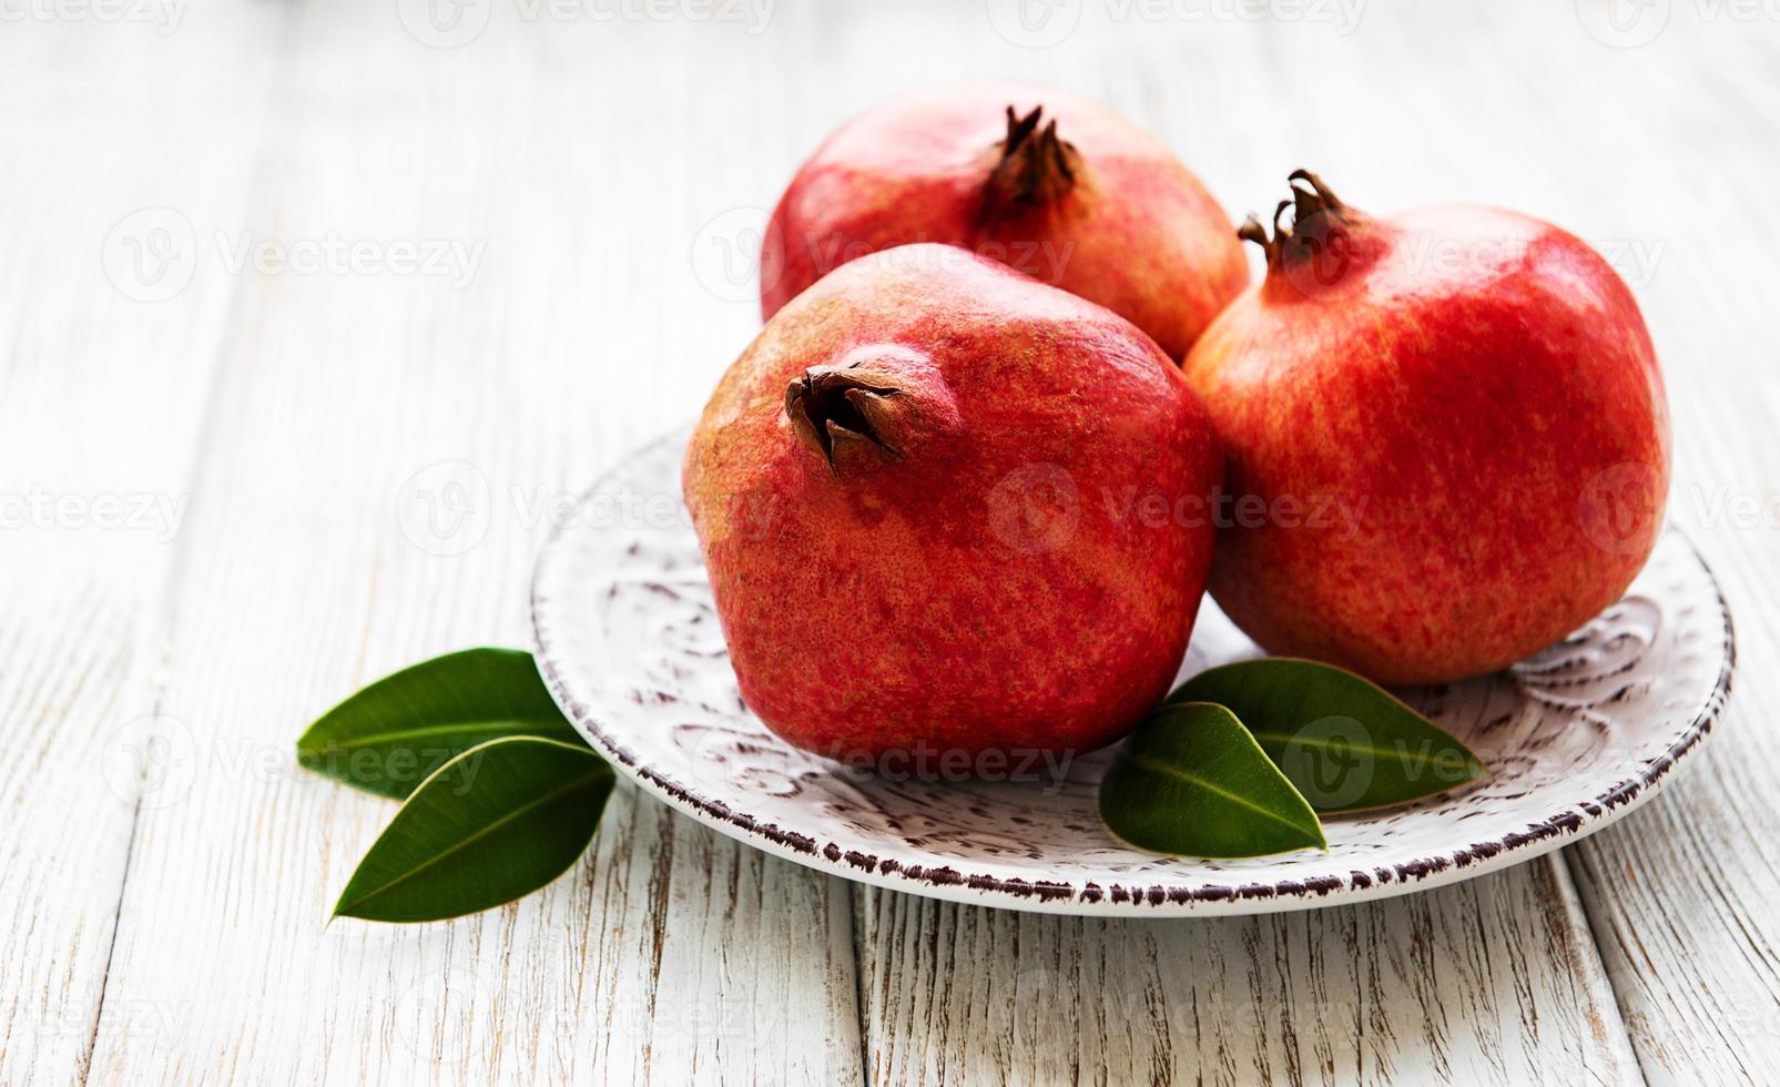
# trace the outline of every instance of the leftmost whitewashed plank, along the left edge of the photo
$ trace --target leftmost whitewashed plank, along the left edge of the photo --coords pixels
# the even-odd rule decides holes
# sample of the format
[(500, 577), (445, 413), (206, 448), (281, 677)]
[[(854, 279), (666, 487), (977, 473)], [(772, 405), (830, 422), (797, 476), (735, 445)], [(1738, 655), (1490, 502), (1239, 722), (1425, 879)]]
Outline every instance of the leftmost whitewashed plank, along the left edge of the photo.
[[(263, 109), (274, 20), (228, 5), (160, 36), (87, 9), (9, 11), (0, 1083), (68, 1083), (98, 1027), (137, 809), (187, 781), (166, 744), (180, 722), (158, 710), (157, 610), (237, 286), (194, 269), (210, 224), (187, 213), (228, 221), (246, 201), (237, 137)], [(112, 1009), (137, 1030), (164, 1011)]]

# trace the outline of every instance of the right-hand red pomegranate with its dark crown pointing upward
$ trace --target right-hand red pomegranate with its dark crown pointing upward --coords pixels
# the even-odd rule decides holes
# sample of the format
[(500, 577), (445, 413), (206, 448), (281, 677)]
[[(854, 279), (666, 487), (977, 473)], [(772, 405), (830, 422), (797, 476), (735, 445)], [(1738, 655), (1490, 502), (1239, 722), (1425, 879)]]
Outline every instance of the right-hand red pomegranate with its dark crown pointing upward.
[(1668, 495), (1630, 292), (1527, 215), (1374, 219), (1315, 174), (1290, 183), (1271, 235), (1241, 229), (1266, 279), (1184, 365), (1228, 455), (1212, 596), (1269, 651), (1383, 683), (1563, 639), (1630, 584)]

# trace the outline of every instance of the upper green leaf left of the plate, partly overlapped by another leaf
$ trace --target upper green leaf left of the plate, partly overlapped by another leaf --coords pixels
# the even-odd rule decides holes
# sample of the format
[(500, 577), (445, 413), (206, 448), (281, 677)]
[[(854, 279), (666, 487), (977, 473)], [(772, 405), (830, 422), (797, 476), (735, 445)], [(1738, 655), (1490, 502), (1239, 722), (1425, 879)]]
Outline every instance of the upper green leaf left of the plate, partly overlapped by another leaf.
[(463, 649), (377, 680), (322, 713), (297, 740), (297, 763), (400, 801), (457, 754), (500, 737), (587, 745), (530, 653)]

